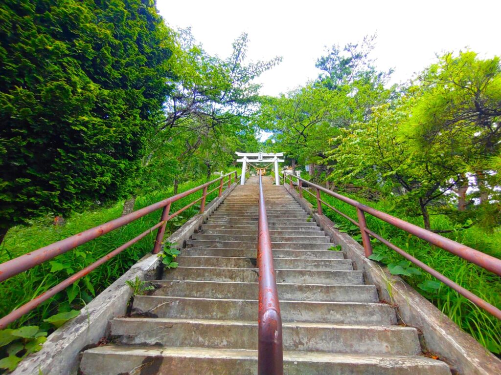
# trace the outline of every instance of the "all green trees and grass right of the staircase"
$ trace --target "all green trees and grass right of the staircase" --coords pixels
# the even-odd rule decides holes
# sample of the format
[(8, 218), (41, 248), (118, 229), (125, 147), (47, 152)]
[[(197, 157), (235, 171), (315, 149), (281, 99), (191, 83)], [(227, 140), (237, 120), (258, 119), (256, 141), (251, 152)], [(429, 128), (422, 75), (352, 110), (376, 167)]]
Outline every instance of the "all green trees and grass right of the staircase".
[[(499, 57), (447, 53), (407, 85), (388, 87), (370, 60), (371, 38), (332, 47), (314, 82), (263, 100), (267, 146), (309, 165), (309, 178), (365, 204), (501, 257), (501, 66)], [(305, 194), (308, 198), (309, 195)], [(325, 198), (356, 218), (354, 208)], [(340, 229), (358, 227), (326, 209)], [(499, 306), (499, 277), (368, 217), (369, 227)], [(373, 240), (373, 259), (402, 275), (489, 350), (501, 323)]]

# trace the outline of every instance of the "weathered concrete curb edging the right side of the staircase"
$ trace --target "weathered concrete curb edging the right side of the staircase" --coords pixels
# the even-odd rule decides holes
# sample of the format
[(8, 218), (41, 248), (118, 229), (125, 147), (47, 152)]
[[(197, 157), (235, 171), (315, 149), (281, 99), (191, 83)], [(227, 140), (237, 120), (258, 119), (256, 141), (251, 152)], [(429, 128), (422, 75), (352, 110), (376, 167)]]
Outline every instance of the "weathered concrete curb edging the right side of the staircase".
[(341, 233), (326, 216), (320, 216), (306, 199), (288, 184), (285, 188), (329, 235), (341, 245), (354, 267), (364, 271), (367, 283), (376, 285), (379, 298), (397, 306), (397, 314), (405, 324), (422, 332), (422, 345), (438, 354), (451, 367), (452, 373), (463, 375), (501, 374), (501, 360), (459, 328), (438, 308), (407, 284), (392, 275), (385, 266), (367, 259), (364, 248), (346, 233)]

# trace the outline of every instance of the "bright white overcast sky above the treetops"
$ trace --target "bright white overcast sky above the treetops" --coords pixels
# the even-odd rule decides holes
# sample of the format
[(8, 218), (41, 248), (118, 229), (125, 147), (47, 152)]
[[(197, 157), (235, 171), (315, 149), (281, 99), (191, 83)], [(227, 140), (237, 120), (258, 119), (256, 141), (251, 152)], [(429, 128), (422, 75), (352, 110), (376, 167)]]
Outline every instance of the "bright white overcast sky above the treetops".
[(228, 56), (231, 42), (247, 32), (247, 58), (283, 56), (259, 78), (267, 95), (316, 78), (315, 61), (325, 46), (374, 32), (372, 57), (381, 70), (395, 68), (394, 82), (409, 79), (442, 51), (468, 46), (482, 57), (501, 55), (500, 0), (157, 0), (157, 7), (171, 27), (191, 26), (211, 54)]

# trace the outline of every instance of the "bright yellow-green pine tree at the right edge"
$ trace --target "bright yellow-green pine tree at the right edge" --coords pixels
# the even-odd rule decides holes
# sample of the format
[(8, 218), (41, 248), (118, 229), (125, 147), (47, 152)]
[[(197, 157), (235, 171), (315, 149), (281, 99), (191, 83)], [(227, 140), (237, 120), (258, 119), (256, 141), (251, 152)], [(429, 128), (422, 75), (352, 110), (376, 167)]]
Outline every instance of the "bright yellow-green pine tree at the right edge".
[[(404, 129), (406, 137), (420, 152), (440, 148), (443, 158), (459, 156), (464, 180), (475, 176), (480, 202), (488, 205), (498, 195), (494, 173), (499, 172), (495, 158), (501, 152), (499, 57), (479, 59), (472, 51), (447, 53), (417, 83), (422, 94)], [(464, 207), (464, 188), (459, 191)]]

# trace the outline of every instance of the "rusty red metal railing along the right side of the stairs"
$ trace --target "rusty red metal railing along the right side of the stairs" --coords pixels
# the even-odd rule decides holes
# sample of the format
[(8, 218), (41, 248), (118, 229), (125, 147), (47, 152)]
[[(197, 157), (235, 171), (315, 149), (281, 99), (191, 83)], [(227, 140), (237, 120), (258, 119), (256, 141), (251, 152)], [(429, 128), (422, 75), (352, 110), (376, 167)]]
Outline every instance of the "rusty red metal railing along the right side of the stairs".
[[(297, 179), (297, 182), (293, 183), (293, 178)], [(405, 252), (402, 250), (400, 247), (394, 245), (387, 239), (384, 239), (381, 237), (379, 234), (375, 233), (374, 231), (370, 230), (367, 227), (367, 222), (365, 220), (365, 213), (368, 213), (374, 217), (377, 217), (383, 221), (386, 221), (387, 223), (402, 229), (406, 231), (407, 233), (413, 234), (418, 238), (424, 239), (426, 242), (431, 243), (437, 247), (440, 247), (446, 251), (451, 252), (454, 255), (460, 256), (461, 258), (474, 263), (476, 265), (479, 265), (480, 267), (493, 272), (499, 276), (501, 276), (501, 259), (495, 258), (493, 256), (490, 256), (488, 254), (485, 254), (481, 251), (475, 250), (474, 248), (468, 247), (462, 243), (456, 242), (452, 239), (446, 238), (444, 236), (441, 236), (437, 233), (433, 233), (432, 231), (426, 230), (424, 228), (421, 228), (420, 226), (411, 224), (410, 222), (407, 222), (405, 220), (399, 219), (395, 216), (392, 216), (388, 213), (379, 211), (377, 209), (374, 209), (372, 207), (369, 207), (365, 204), (362, 204), (354, 199), (348, 198), (344, 195), (338, 194), (334, 191), (331, 191), (329, 189), (326, 189), (323, 186), (317, 185), (315, 183), (312, 183), (306, 179), (303, 179), (301, 177), (298, 177), (294, 174), (290, 173), (284, 173), (284, 184), (286, 183), (287, 179), (289, 180), (289, 184), (291, 188), (294, 188), (294, 185), (298, 186), (298, 191), (299, 195), (303, 197), (303, 191), (306, 191), (310, 195), (312, 195), (316, 201), (317, 201), (317, 211), (319, 215), (322, 215), (322, 203), (325, 204), (327, 207), (332, 209), (334, 212), (340, 214), (347, 220), (349, 220), (351, 223), (354, 225), (358, 226), (360, 228), (360, 232), (362, 234), (362, 244), (364, 246), (364, 252), (365, 256), (368, 257), (372, 254), (372, 245), (370, 242), (370, 236), (376, 238), (380, 242), (384, 243), (386, 246), (389, 248), (395, 250), (398, 252), (400, 255), (402, 255), (404, 258), (407, 260), (410, 260), (412, 263), (416, 264), (432, 276), (436, 277), (438, 280), (442, 281), (444, 284), (447, 286), (450, 286), (452, 289), (457, 291), (459, 294), (462, 296), (466, 297), (468, 300), (476, 304), (477, 306), (483, 308), (487, 312), (491, 313), (498, 319), (501, 319), (501, 310), (489, 302), (483, 300), (476, 294), (473, 294), (469, 290), (463, 288), (461, 285), (457, 284), (456, 282), (452, 281), (451, 279), (447, 278), (440, 272), (436, 271), (435, 269), (431, 268), (430, 266), (426, 265), (422, 261), (416, 259), (414, 256), (410, 255), (409, 253)], [(311, 191), (307, 190), (304, 188), (303, 183), (308, 184), (308, 186), (311, 186), (315, 189), (315, 194), (312, 193)], [(345, 213), (341, 212), (337, 208), (333, 207), (329, 203), (327, 203), (325, 200), (322, 200), (322, 197), (320, 195), (321, 192), (324, 192), (330, 196), (333, 196), (345, 203), (348, 203), (352, 206), (354, 206), (357, 209), (357, 218), (358, 221), (352, 219), (350, 216), (346, 215)]]

